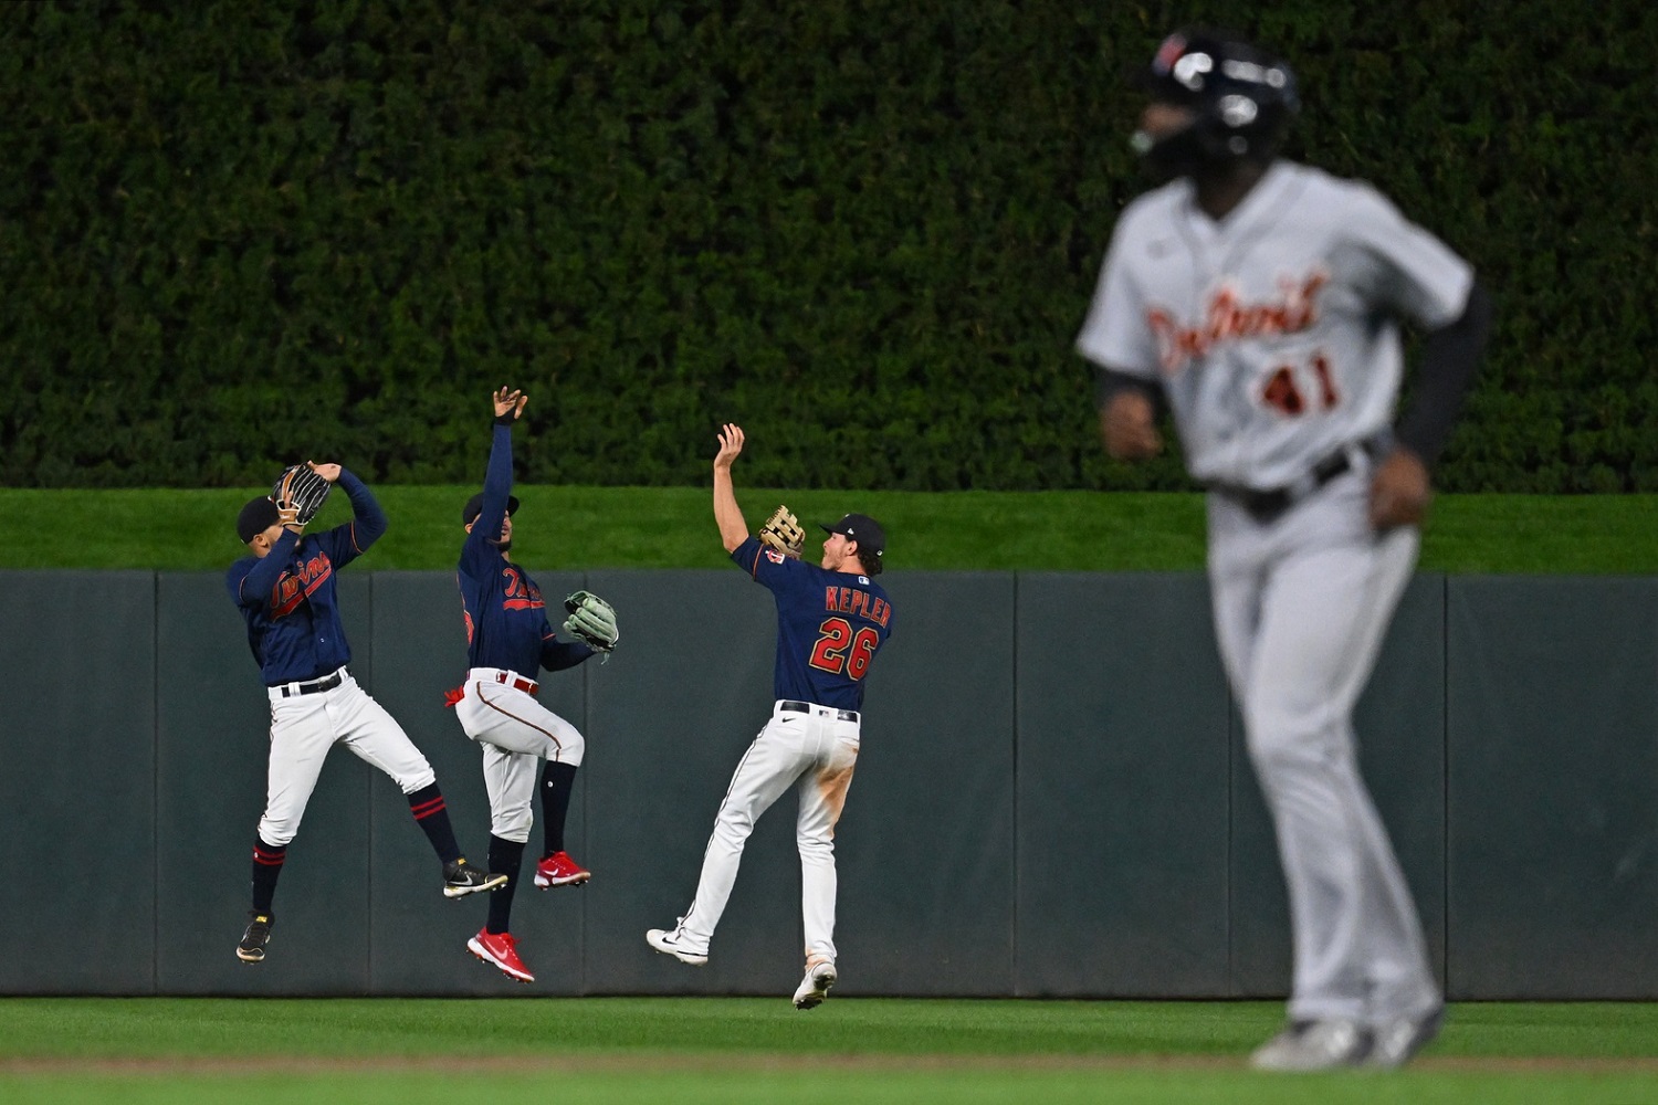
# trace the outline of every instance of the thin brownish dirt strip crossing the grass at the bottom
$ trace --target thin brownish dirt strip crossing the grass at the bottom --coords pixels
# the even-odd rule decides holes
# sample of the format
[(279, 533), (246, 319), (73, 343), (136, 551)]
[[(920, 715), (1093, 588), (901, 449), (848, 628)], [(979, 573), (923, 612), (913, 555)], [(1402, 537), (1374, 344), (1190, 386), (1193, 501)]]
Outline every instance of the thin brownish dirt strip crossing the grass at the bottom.
[[(262, 1075), (262, 1074), (406, 1074), (419, 1070), (474, 1074), (716, 1074), (749, 1072), (885, 1072), (885, 1070), (1239, 1070), (1237, 1055), (678, 1055), (671, 1052), (628, 1055), (444, 1055), (410, 1059), (333, 1059), (317, 1055), (264, 1055), (259, 1059), (196, 1057), (177, 1059), (7, 1059), (0, 1072), (18, 1075)], [(1650, 1074), (1658, 1075), (1658, 1057), (1582, 1059), (1550, 1055), (1515, 1057), (1426, 1057), (1409, 1070), (1447, 1074)], [(1386, 1077), (1371, 1072), (1373, 1077)]]

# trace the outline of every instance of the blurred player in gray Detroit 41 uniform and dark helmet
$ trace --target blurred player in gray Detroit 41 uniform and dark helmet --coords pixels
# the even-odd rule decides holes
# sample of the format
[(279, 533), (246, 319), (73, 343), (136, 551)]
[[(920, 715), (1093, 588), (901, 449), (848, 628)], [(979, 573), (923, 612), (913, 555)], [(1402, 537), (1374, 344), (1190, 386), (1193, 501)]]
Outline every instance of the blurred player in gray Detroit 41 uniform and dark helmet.
[[(1078, 348), (1098, 366), (1106, 449), (1157, 452), (1166, 404), (1209, 489), (1215, 633), (1295, 944), (1288, 1024), (1252, 1064), (1398, 1067), (1444, 1002), (1351, 714), (1491, 305), (1467, 262), (1373, 187), (1277, 157), (1298, 111), (1278, 58), (1177, 33), (1142, 83), (1134, 146), (1167, 182), (1117, 220)], [(1393, 422), (1399, 321), (1424, 341)]]

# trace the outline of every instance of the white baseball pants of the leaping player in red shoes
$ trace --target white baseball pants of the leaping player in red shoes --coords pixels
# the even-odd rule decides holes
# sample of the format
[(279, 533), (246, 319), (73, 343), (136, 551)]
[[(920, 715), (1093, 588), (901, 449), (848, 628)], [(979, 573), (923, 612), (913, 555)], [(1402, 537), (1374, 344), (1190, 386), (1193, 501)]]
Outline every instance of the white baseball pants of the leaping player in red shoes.
[(539, 684), (516, 671), (473, 668), (454, 716), (484, 752), (489, 832), (526, 843), (536, 820), (541, 760), (582, 765), (587, 742), (565, 719), (536, 701)]

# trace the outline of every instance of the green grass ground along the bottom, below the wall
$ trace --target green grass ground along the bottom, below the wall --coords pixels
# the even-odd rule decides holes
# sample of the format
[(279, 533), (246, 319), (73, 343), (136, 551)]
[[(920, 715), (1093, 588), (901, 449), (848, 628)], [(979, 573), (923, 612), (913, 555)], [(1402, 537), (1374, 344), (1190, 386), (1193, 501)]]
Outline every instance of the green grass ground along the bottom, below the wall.
[(1403, 1072), (1263, 1075), (1278, 1002), (0, 1001), (5, 1102), (1658, 1102), (1658, 1006), (1464, 1004)]

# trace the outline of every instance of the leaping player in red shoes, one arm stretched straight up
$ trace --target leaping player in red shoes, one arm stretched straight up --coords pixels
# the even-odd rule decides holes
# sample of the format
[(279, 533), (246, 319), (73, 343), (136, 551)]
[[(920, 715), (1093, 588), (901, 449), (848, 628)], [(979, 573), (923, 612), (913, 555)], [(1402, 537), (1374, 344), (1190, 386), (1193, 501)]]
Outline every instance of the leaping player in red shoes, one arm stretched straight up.
[(580, 641), (559, 641), (547, 621), (536, 580), (512, 563), (512, 424), (529, 396), (502, 388), (494, 393), (496, 422), (484, 490), (466, 504), (461, 520), (458, 580), (466, 618), (466, 683), (449, 692), (449, 704), (484, 755), (489, 790), (489, 873), (507, 885), (489, 896), (489, 918), (466, 946), (507, 977), (534, 982), (509, 931), (512, 893), (534, 820), (531, 805), (541, 784), (544, 852), (536, 885), (579, 886), (590, 873), (564, 850), (564, 820), (570, 808), (575, 769), (587, 742), (575, 726), (542, 706), (537, 674), (574, 668), (592, 658)]

